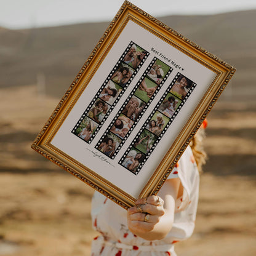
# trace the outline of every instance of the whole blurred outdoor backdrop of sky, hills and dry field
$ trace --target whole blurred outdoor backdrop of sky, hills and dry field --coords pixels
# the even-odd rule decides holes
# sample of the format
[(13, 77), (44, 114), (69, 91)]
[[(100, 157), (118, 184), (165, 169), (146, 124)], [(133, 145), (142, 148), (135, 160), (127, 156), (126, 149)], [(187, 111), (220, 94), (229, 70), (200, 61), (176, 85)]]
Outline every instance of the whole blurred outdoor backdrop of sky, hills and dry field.
[[(94, 191), (30, 149), (123, 1), (0, 1), (0, 255), (89, 255)], [(180, 256), (256, 255), (256, 2), (132, 1), (237, 68), (208, 116)]]

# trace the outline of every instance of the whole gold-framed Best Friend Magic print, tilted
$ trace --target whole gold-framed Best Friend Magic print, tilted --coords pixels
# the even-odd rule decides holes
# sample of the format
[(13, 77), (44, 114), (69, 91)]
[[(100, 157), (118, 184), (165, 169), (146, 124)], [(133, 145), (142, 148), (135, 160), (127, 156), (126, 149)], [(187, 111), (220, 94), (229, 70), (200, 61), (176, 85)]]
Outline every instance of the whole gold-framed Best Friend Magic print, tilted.
[(128, 209), (158, 193), (235, 71), (124, 1), (31, 148)]

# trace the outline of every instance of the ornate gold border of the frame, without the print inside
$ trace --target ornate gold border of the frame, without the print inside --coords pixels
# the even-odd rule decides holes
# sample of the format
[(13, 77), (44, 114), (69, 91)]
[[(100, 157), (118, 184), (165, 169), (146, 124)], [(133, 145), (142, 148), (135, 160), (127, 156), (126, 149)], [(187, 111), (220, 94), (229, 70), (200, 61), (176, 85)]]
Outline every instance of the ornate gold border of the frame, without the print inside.
[[(206, 94), (202, 98), (201, 102), (198, 103), (198, 106), (193, 111), (193, 114), (190, 119), (188, 119), (183, 129), (180, 131), (175, 142), (159, 163), (158, 168), (151, 176), (150, 180), (148, 180), (146, 186), (142, 189), (139, 196), (140, 198), (158, 193), (186, 146), (188, 146), (194, 134), (196, 134), (196, 131), (199, 129), (210, 110), (212, 110), (212, 107), (218, 97), (220, 97), (220, 94), (222, 94), (226, 84), (228, 84), (236, 71), (233, 66), (190, 41), (190, 39), (185, 38), (177, 31), (172, 30), (172, 28), (164, 25), (164, 23), (139, 9), (137, 6), (134, 6), (134, 4), (129, 1), (125, 1), (124, 4), (122, 4), (118, 14), (116, 14), (102, 38), (98, 41), (78, 75), (74, 78), (71, 86), (68, 88), (45, 126), (34, 140), (31, 148), (62, 167), (62, 169), (82, 180), (82, 182), (87, 183), (95, 190), (104, 194), (121, 207), (124, 207), (124, 209), (128, 209), (130, 206), (133, 206), (135, 198), (125, 193), (117, 186), (114, 186), (107, 180), (102, 179), (102, 177), (97, 175), (93, 170), (88, 169), (86, 166), (74, 160), (61, 150), (58, 150), (58, 148), (50, 142), (62, 125), (63, 121), (65, 121), (84, 89), (86, 89), (87, 84), (89, 84), (90, 80), (98, 70), (98, 67), (105, 59), (111, 47), (113, 47), (114, 42), (118, 39), (129, 20), (132, 20), (142, 26), (145, 30), (155, 34), (163, 41), (166, 41), (168, 44), (180, 50), (184, 54), (189, 55), (191, 58), (217, 74), (214, 82), (209, 86)], [(204, 111), (202, 113), (202, 111), (200, 112), (199, 110)], [(90, 175), (87, 175), (86, 171)], [(98, 182), (98, 180), (101, 180), (101, 182)]]

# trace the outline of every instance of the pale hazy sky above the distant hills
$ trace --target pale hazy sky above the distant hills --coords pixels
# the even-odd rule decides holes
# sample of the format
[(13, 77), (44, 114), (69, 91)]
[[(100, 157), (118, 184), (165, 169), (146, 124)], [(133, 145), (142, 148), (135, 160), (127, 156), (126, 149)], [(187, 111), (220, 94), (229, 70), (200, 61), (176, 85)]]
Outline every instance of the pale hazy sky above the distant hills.
[[(39, 28), (111, 21), (124, 0), (0, 0), (0, 26)], [(131, 0), (154, 17), (204, 15), (256, 9), (256, 0)]]

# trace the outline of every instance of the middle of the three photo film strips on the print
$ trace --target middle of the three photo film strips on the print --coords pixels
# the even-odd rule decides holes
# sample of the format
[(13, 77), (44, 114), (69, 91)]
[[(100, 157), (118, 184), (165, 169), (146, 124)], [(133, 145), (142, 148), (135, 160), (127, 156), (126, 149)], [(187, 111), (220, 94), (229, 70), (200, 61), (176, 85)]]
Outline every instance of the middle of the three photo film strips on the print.
[(110, 126), (98, 141), (95, 146), (97, 150), (111, 159), (116, 157), (172, 70), (166, 63), (156, 57), (153, 58), (129, 97), (111, 121)]

